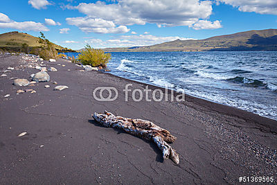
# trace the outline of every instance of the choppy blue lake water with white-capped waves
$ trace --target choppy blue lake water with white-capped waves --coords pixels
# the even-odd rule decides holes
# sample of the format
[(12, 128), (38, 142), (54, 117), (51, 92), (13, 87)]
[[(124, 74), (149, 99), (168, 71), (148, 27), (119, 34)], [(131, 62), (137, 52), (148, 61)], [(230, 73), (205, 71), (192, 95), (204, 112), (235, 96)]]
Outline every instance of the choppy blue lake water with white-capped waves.
[(108, 67), (116, 76), (277, 120), (277, 52), (111, 53), (111, 57)]

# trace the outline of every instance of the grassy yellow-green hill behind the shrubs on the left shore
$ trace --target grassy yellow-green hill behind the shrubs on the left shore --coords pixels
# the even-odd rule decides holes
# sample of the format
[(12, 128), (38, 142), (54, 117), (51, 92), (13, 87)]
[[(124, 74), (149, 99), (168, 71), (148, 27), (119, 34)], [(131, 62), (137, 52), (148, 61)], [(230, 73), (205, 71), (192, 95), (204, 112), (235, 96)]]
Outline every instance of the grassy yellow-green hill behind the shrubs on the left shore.
[[(13, 31), (0, 34), (0, 49), (17, 51), (22, 47), (22, 44), (28, 44), (28, 47), (30, 48), (38, 47), (41, 45), (39, 44), (38, 37), (28, 35), (27, 33), (19, 33), (17, 31)], [(57, 44), (54, 45), (57, 51), (72, 51), (71, 49), (64, 48)]]

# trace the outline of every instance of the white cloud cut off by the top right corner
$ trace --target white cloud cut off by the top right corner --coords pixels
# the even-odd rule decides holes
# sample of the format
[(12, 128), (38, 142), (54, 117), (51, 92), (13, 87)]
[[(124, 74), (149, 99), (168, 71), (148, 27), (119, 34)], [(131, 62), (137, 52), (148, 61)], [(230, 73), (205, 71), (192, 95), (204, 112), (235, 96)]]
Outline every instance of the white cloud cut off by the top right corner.
[(257, 12), (260, 14), (277, 15), (276, 0), (217, 0), (217, 2), (238, 7), (238, 10), (242, 12)]

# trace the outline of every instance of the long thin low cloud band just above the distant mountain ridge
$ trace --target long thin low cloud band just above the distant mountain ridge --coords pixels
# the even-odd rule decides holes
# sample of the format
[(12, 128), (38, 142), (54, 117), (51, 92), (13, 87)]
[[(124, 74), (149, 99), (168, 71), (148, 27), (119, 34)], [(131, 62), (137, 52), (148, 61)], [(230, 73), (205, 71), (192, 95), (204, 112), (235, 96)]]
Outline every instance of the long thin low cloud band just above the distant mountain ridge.
[(132, 46), (150, 46), (162, 42), (170, 42), (176, 39), (190, 39), (183, 37), (157, 37), (155, 35), (122, 35), (116, 39), (89, 39), (85, 42), (92, 44), (93, 47), (132, 47)]

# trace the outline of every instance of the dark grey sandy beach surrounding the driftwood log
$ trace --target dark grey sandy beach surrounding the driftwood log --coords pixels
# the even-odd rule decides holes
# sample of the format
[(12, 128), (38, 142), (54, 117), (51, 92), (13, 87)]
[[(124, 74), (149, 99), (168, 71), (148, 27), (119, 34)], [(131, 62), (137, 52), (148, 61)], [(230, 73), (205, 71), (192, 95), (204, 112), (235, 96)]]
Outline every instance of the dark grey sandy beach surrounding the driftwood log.
[[(0, 55), (0, 75), (19, 58)], [(276, 184), (277, 121), (191, 96), (181, 103), (135, 102), (129, 92), (126, 102), (125, 85), (146, 85), (79, 71), (64, 60), (44, 64), (58, 70), (48, 72), (50, 82), (12, 85), (10, 78), (29, 79), (39, 71), (28, 67), (0, 77), (0, 184), (242, 184), (239, 177), (257, 176), (274, 177)], [(69, 89), (53, 91), (53, 81)], [(103, 86), (116, 87), (118, 98), (95, 100), (93, 90)], [(16, 94), (18, 89), (37, 92)], [(91, 113), (105, 109), (169, 130), (177, 136), (171, 146), (180, 163), (163, 160), (149, 141), (93, 121)], [(28, 134), (18, 137), (21, 132)]]

